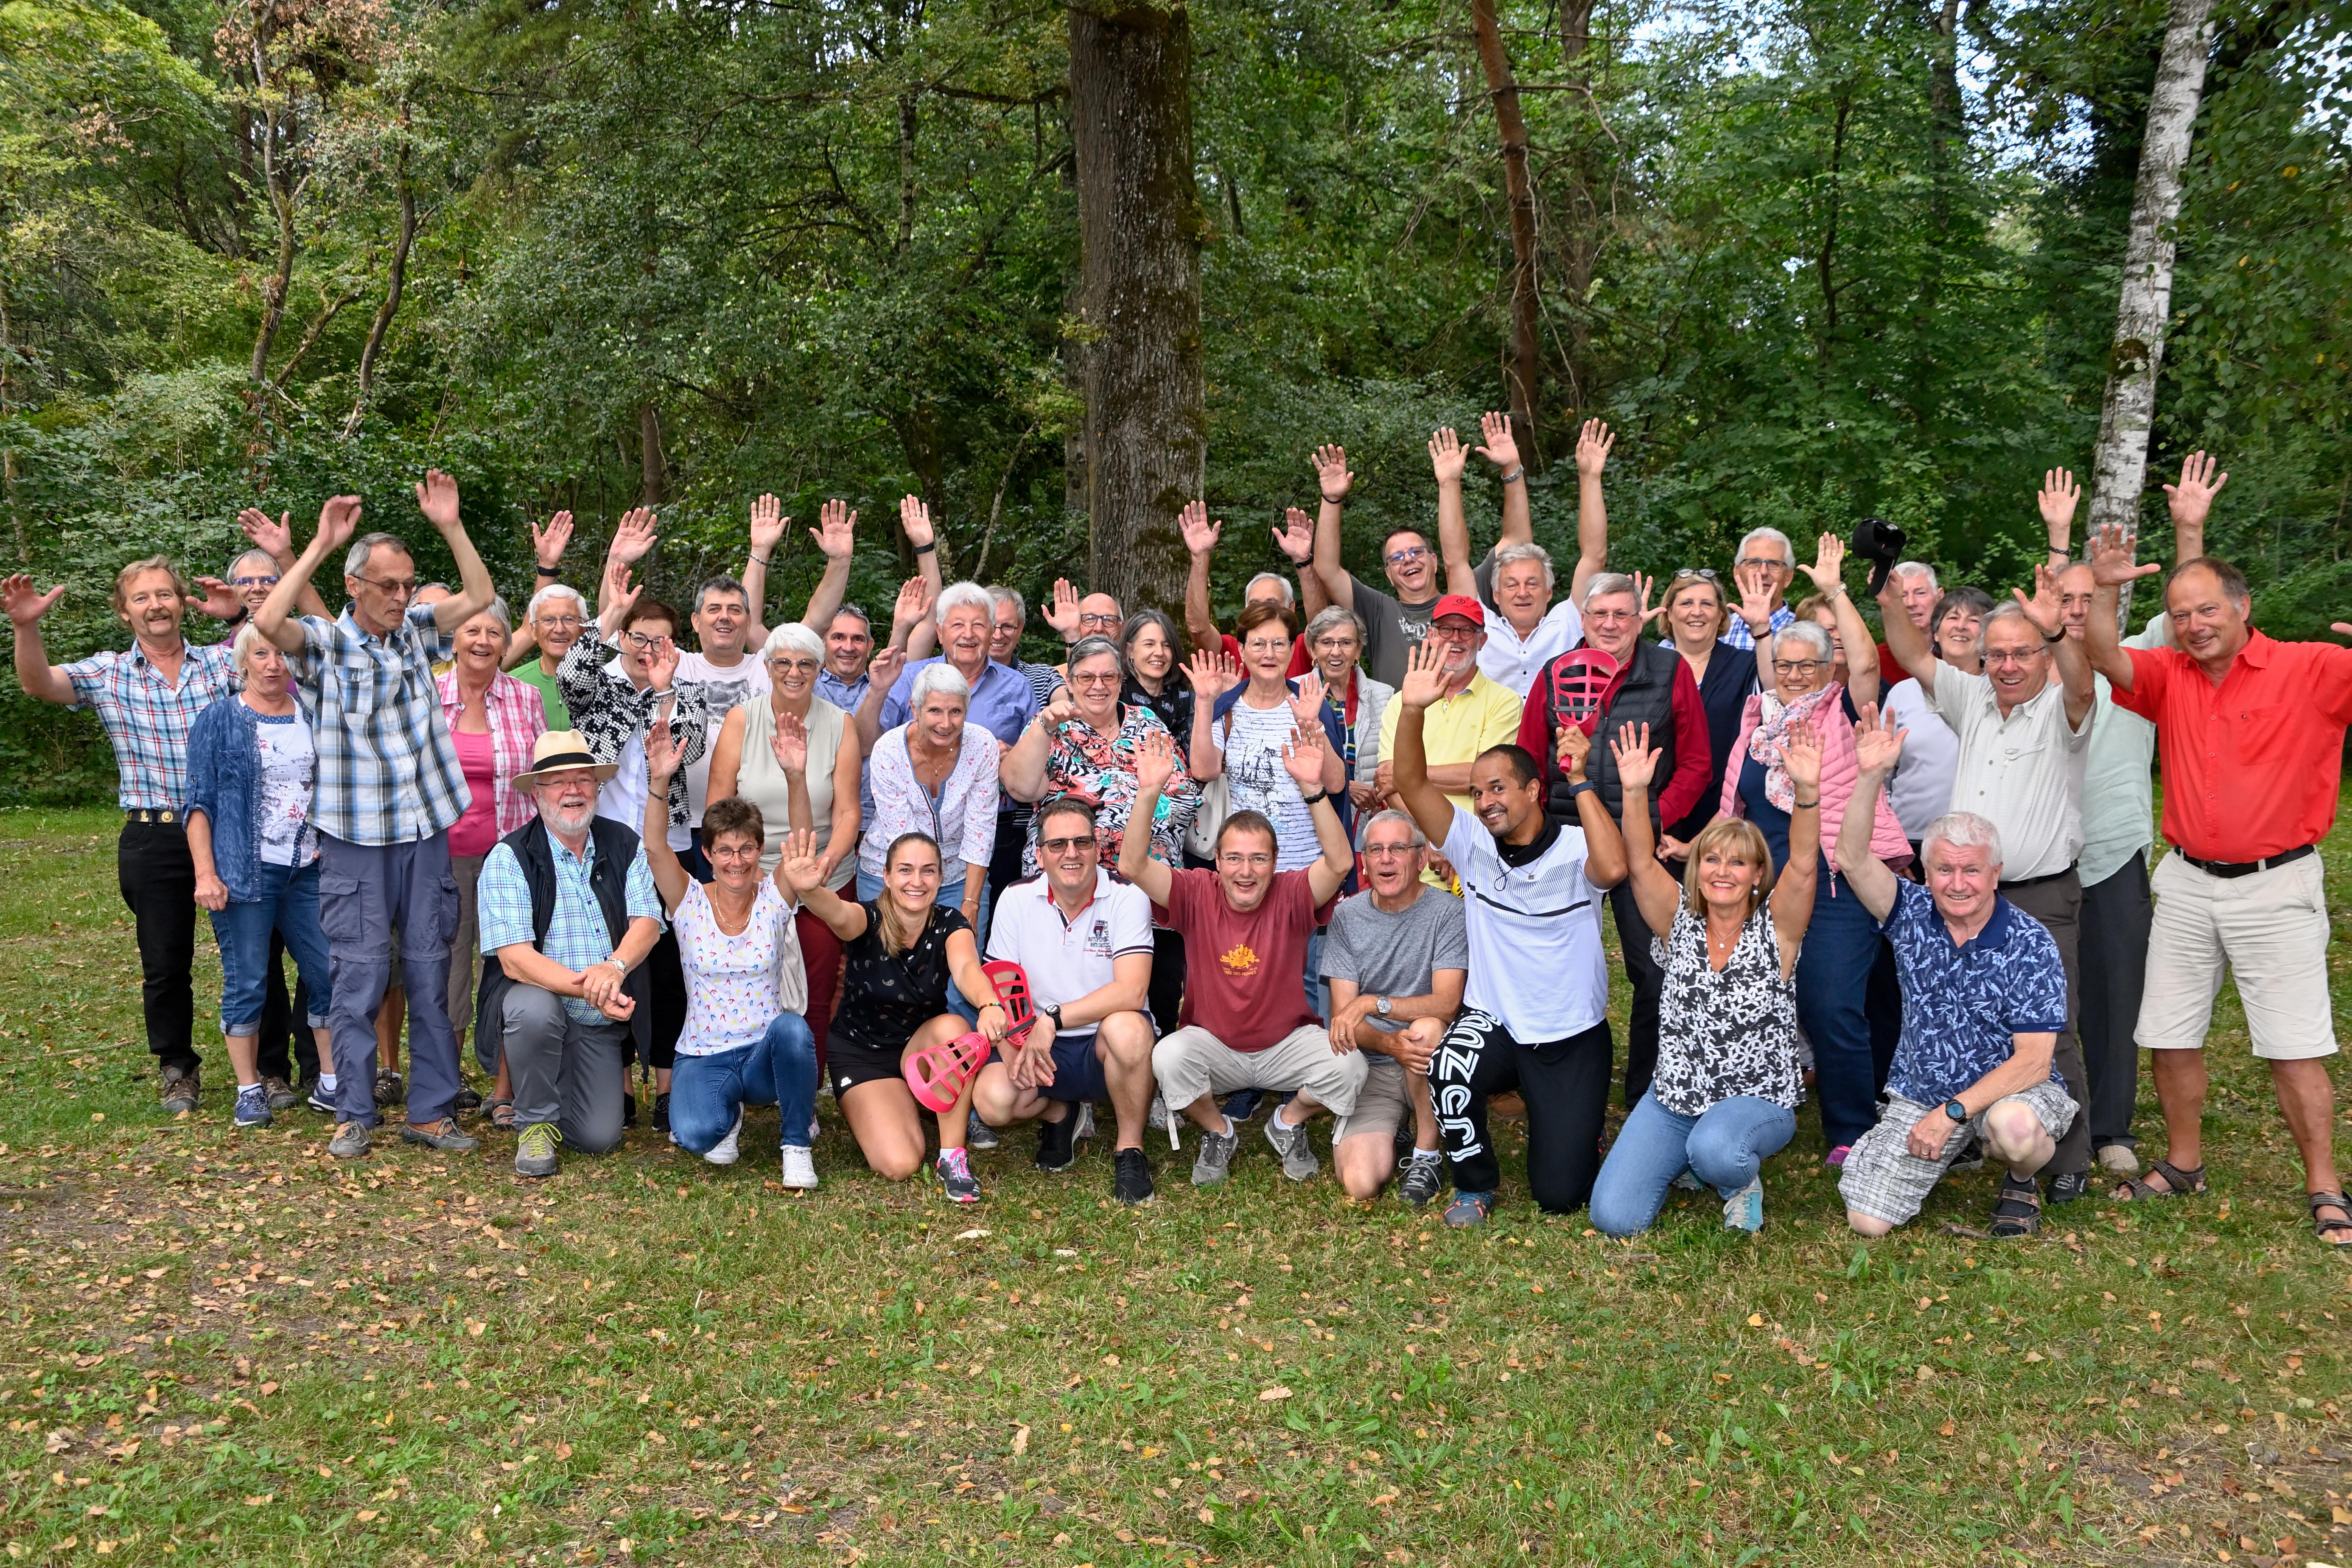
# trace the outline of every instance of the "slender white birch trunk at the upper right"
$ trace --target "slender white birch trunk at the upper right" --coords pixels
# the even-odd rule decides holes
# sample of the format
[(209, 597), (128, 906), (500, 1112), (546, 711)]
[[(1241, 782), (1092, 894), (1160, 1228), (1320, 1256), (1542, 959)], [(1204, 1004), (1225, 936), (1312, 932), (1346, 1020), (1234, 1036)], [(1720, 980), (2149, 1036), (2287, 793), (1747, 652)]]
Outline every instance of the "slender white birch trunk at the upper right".
[[(2197, 101), (2204, 96), (2211, 12), (2213, 0), (2173, 0), (2157, 87), (2147, 96), (2147, 136), (2131, 195), (2131, 235), (2124, 242), (2124, 289), (2114, 310), (2114, 348), (2107, 350), (2107, 400), (2091, 454), (2093, 529), (2136, 529), (2140, 522), (2147, 430), (2157, 414), (2157, 369), (2164, 364), (2164, 324), (2173, 306), (2180, 165), (2187, 162)], [(2126, 597), (2126, 616), (2129, 609)]]

